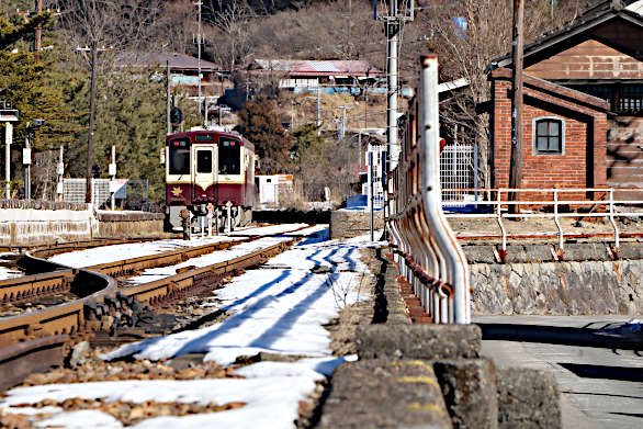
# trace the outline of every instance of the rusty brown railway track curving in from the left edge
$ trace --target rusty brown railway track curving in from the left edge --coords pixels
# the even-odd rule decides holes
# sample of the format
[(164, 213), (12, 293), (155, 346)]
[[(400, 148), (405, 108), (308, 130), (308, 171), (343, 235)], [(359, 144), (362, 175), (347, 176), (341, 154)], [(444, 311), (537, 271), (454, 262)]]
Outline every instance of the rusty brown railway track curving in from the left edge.
[(50, 262), (35, 255), (25, 255), (21, 262), (25, 267), (25, 272), (49, 272), (0, 282), (0, 301), (20, 302), (61, 292), (71, 292), (79, 298), (0, 318), (0, 387), (13, 385), (30, 372), (42, 370), (44, 366), (61, 364), (64, 349), (69, 342), (88, 338), (98, 331), (109, 331), (119, 325), (121, 318), (132, 320), (136, 311), (143, 306), (162, 305), (184, 297), (204, 283), (212, 283), (230, 273), (258, 266), (297, 240), (293, 237), (227, 261), (202, 268), (185, 268), (178, 270), (180, 272), (174, 275), (124, 289), (120, 289), (113, 278), (148, 268), (177, 264), (258, 238), (262, 237), (240, 237), (239, 240), (190, 247), (83, 269)]

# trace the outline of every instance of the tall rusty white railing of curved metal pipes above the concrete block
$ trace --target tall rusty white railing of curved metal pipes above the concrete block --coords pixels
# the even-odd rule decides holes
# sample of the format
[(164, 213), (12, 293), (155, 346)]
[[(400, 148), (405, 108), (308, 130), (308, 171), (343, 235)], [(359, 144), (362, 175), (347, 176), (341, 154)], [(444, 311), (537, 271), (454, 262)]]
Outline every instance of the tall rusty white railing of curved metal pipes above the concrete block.
[(438, 57), (421, 57), (397, 167), (387, 187), (387, 226), (401, 274), (435, 323), (471, 323), (470, 273), (442, 211)]

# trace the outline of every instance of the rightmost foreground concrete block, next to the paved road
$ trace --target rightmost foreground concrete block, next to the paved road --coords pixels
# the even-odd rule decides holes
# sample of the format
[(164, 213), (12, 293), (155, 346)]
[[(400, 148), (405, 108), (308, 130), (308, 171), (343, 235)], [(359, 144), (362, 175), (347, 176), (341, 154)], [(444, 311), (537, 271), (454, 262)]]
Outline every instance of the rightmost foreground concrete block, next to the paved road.
[(497, 370), (498, 428), (561, 428), (560, 392), (549, 371)]

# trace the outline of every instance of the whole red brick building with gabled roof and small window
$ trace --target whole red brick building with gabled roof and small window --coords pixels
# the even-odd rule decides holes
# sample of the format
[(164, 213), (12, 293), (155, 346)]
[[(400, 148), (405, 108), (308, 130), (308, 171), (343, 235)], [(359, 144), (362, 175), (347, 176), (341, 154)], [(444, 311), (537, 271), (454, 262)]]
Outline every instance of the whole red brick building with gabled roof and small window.
[[(524, 47), (522, 187), (643, 188), (642, 5), (601, 2)], [(495, 188), (509, 182), (511, 66), (489, 74)]]

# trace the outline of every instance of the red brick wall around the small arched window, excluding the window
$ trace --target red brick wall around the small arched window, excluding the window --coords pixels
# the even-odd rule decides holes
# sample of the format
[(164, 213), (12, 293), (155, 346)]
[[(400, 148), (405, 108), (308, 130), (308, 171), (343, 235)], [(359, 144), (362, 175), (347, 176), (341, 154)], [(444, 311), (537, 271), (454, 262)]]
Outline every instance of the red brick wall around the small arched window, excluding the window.
[[(511, 157), (511, 71), (492, 74), (494, 188), (509, 187)], [(521, 188), (605, 187), (607, 102), (524, 76)], [(563, 121), (563, 154), (535, 154), (534, 118)], [(590, 150), (590, 153), (588, 153)], [(543, 196), (543, 195), (540, 195)], [(563, 197), (582, 195), (564, 195)], [(539, 195), (522, 195), (530, 200)]]

